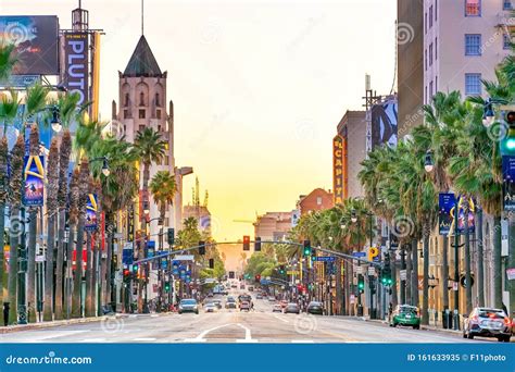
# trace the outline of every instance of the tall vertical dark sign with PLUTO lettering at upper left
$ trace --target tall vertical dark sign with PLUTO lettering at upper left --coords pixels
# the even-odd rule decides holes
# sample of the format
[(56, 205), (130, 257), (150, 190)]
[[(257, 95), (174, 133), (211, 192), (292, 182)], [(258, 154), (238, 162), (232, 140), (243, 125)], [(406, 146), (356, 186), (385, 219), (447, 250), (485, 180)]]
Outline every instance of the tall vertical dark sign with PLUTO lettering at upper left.
[(78, 104), (89, 101), (89, 34), (65, 33), (62, 84), (80, 96)]

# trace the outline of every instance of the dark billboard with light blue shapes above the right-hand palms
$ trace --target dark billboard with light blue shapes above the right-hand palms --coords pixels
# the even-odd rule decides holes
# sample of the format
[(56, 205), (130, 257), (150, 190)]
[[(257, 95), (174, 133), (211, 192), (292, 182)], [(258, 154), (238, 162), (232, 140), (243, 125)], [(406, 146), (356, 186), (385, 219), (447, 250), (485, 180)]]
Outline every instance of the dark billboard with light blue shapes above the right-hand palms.
[(397, 146), (397, 99), (387, 100), (384, 103), (374, 104), (372, 112), (372, 148), (382, 144)]

